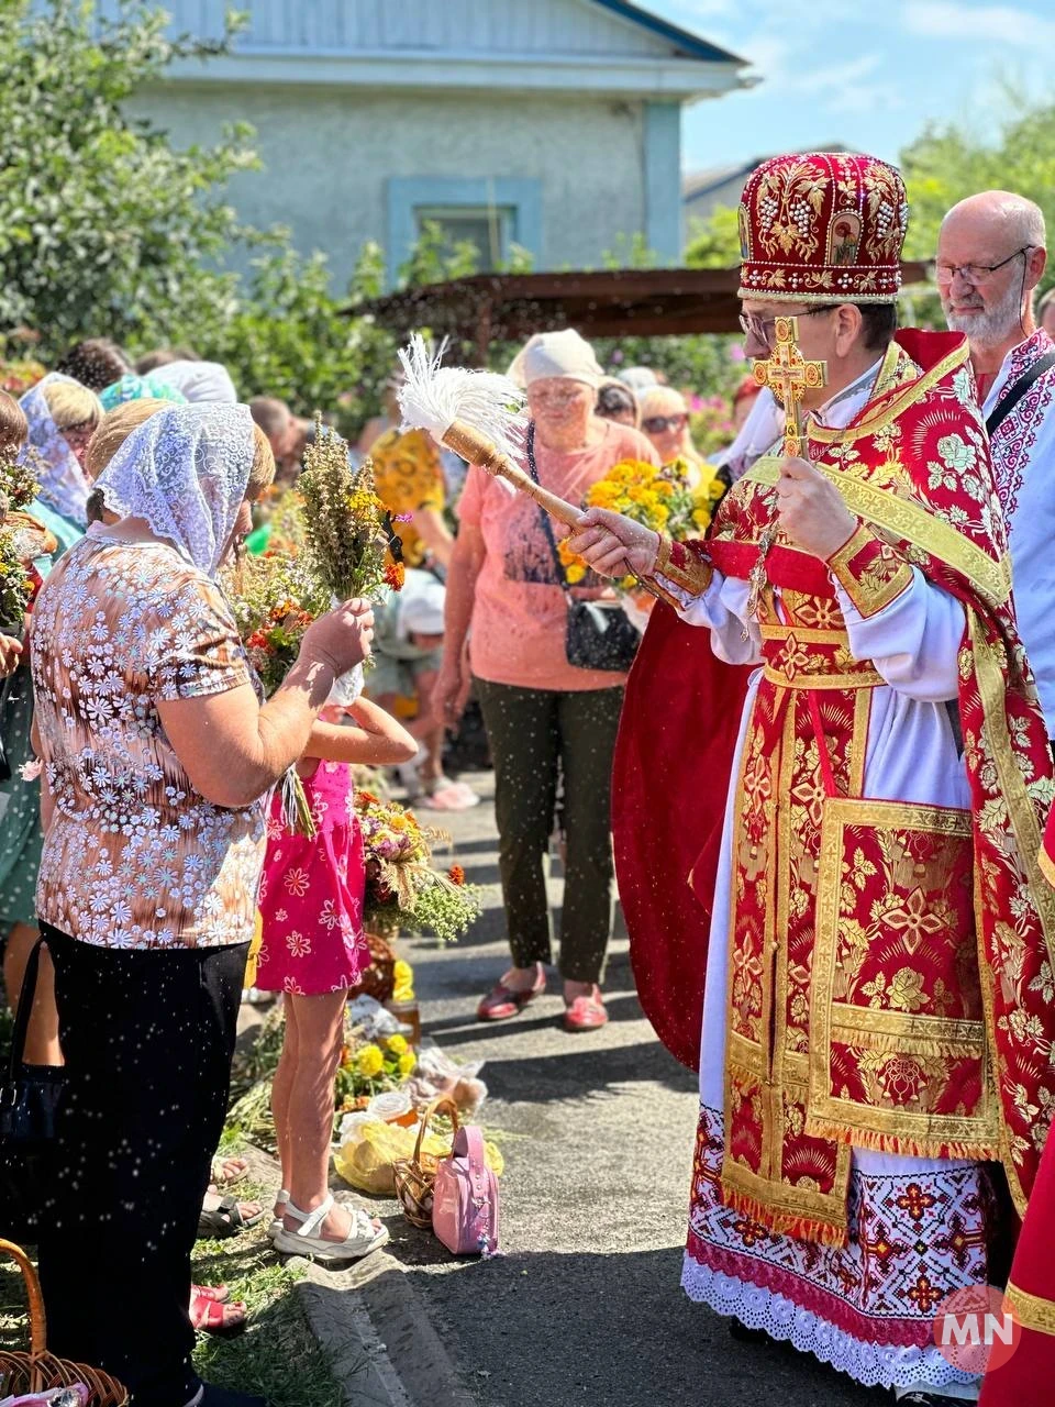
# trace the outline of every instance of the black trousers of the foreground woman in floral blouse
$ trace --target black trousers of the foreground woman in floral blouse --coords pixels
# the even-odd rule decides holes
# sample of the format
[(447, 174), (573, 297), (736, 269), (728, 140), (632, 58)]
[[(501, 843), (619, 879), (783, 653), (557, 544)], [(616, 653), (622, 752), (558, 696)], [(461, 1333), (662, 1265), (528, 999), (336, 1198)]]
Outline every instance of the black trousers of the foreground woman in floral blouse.
[(224, 1130), (248, 944), (127, 951), (41, 926), (66, 1090), (39, 1271), (48, 1346), (183, 1407), (190, 1256)]

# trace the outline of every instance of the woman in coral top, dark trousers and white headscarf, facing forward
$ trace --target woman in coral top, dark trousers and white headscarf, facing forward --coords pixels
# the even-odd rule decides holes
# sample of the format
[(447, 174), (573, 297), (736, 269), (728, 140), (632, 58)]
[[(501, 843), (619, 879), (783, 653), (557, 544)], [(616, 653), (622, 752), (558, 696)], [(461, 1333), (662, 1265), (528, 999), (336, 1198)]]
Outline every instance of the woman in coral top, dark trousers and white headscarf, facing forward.
[[(634, 429), (594, 414), (602, 371), (577, 332), (546, 332), (511, 376), (526, 387), (523, 467), (581, 504), (623, 459), (658, 463)], [(471, 681), (495, 765), (502, 895), (512, 967), (480, 1003), (481, 1020), (515, 1016), (546, 989), (550, 909), (543, 861), (564, 779), (567, 870), (560, 974), (564, 1021), (595, 1030), (608, 1013), (601, 982), (612, 924), (609, 771), (625, 675), (568, 663), (568, 590), (547, 523), (532, 499), (473, 467), (447, 574), (437, 709), (453, 722)], [(598, 594), (598, 581), (585, 594)], [(466, 657), (468, 642), (468, 658)]]

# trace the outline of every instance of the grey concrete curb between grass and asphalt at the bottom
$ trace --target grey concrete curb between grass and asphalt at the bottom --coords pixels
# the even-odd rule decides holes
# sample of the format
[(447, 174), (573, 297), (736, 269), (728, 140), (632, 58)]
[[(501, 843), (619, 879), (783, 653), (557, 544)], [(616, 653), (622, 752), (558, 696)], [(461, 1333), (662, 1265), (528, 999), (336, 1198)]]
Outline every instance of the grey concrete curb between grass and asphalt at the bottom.
[[(279, 1185), (274, 1158), (252, 1147), (245, 1157), (255, 1180)], [(291, 1259), (304, 1272), (294, 1293), (345, 1407), (478, 1407), (394, 1256), (376, 1251), (346, 1269)]]

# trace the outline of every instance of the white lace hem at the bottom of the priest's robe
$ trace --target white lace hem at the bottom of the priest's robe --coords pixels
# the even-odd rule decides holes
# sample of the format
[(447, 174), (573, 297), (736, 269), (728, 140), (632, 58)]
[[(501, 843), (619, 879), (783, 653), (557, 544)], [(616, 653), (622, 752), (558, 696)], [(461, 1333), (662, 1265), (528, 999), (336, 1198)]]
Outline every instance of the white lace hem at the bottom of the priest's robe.
[(948, 1363), (935, 1345), (900, 1348), (865, 1344), (845, 1330), (795, 1304), (784, 1294), (750, 1285), (685, 1256), (681, 1287), (698, 1304), (736, 1316), (748, 1328), (762, 1328), (803, 1354), (813, 1354), (865, 1387), (978, 1386), (980, 1379)]

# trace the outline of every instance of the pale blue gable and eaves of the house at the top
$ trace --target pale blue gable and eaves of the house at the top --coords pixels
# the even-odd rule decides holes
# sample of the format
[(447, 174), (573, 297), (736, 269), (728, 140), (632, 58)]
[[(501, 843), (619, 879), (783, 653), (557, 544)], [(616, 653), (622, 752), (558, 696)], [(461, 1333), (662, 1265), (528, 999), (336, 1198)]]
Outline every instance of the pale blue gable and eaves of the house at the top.
[[(38, 0), (39, 3), (39, 0)], [(98, 0), (104, 14), (120, 0)], [(748, 61), (630, 0), (248, 0), (231, 52), (167, 77), (692, 101), (748, 86)], [(172, 32), (218, 38), (224, 0), (166, 0)]]

